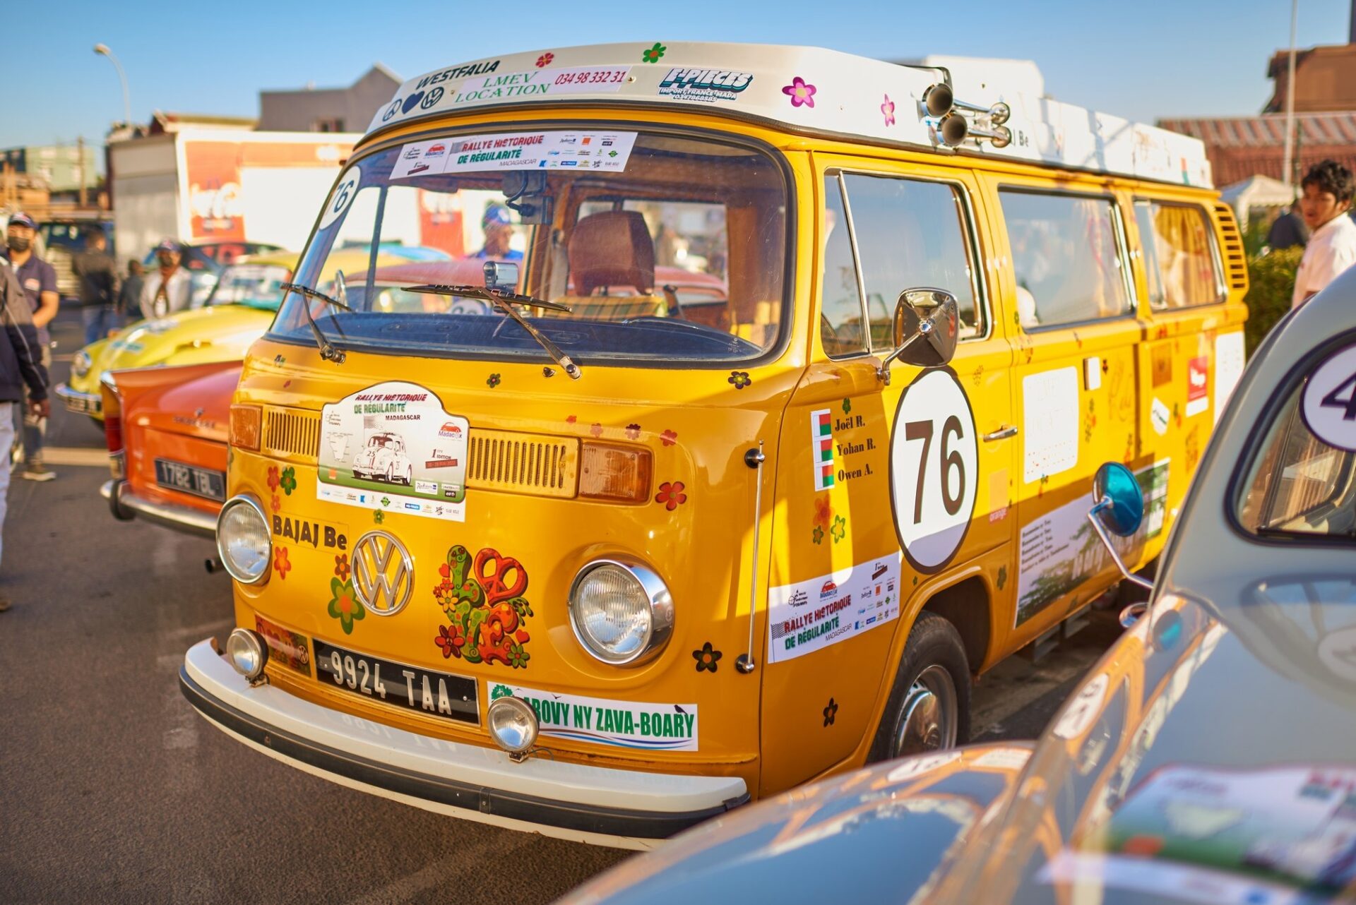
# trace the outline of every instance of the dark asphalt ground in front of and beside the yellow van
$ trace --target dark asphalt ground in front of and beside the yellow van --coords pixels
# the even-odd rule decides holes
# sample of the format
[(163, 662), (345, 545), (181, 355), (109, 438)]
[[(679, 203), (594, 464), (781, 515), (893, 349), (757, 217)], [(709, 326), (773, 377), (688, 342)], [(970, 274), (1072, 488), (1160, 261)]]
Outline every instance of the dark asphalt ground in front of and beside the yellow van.
[[(176, 672), (232, 625), (212, 543), (114, 522), (88, 420), (54, 411), (47, 446), (58, 477), (15, 474), (0, 568), (0, 901), (545, 902), (628, 856), (343, 788), (209, 726)], [(1037, 734), (1115, 634), (1101, 614), (1039, 665), (1001, 665), (975, 734)]]

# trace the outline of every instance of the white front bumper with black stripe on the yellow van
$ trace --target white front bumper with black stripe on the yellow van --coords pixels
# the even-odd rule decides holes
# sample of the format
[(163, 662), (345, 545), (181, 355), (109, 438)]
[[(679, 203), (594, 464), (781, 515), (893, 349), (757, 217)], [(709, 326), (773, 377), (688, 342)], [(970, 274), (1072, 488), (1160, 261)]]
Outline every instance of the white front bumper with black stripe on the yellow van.
[(650, 774), (549, 757), (515, 764), (498, 748), (418, 736), (267, 683), (250, 687), (212, 639), (184, 654), (179, 687), (218, 729), (292, 767), (426, 810), (545, 836), (654, 848), (749, 801), (738, 776)]

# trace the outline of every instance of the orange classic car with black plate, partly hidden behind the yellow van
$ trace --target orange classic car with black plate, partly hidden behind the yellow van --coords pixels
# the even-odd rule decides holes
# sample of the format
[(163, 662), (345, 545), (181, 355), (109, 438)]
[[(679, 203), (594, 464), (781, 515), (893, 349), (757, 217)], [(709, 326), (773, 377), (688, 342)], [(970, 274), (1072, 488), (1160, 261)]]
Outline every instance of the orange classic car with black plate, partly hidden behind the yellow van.
[(240, 362), (113, 371), (103, 379), (113, 480), (100, 493), (119, 520), (144, 518), (213, 536), (226, 488), (231, 394)]

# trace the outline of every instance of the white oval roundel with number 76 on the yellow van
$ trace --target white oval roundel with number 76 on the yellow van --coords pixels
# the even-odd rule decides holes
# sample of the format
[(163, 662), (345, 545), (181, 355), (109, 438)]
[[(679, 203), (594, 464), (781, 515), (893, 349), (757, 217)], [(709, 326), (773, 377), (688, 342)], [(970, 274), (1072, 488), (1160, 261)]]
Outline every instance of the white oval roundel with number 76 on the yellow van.
[(979, 446), (975, 415), (949, 369), (925, 371), (904, 389), (890, 436), (895, 530), (919, 572), (956, 555), (975, 512)]

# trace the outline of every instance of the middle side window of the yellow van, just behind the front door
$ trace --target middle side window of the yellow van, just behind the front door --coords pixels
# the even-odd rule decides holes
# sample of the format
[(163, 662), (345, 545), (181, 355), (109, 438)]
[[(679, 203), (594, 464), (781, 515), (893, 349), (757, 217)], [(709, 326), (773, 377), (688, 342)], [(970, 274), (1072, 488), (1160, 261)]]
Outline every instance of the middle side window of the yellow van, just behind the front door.
[(1115, 203), (1109, 198), (1001, 190), (1026, 329), (1120, 317), (1134, 310)]

